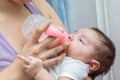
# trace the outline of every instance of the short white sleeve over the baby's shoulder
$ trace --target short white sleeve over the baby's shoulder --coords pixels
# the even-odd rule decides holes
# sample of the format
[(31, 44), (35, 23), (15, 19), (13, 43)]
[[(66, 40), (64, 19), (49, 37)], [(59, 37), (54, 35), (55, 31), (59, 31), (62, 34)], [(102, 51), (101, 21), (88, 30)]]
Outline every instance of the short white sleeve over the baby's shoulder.
[(73, 80), (83, 80), (88, 76), (88, 67), (81, 61), (70, 60), (61, 64), (59, 77), (68, 77)]

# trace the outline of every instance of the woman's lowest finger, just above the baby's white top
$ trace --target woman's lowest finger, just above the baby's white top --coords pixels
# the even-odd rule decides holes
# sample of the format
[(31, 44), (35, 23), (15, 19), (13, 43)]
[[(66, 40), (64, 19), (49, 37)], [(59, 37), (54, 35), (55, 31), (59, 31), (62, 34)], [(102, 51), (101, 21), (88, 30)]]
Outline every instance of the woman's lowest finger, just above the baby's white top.
[(44, 67), (47, 68), (48, 66), (53, 66), (53, 65), (57, 64), (58, 62), (63, 60), (65, 55), (66, 54), (64, 53), (64, 54), (61, 54), (60, 56), (57, 56), (55, 58), (51, 58), (51, 59), (45, 60), (44, 61)]

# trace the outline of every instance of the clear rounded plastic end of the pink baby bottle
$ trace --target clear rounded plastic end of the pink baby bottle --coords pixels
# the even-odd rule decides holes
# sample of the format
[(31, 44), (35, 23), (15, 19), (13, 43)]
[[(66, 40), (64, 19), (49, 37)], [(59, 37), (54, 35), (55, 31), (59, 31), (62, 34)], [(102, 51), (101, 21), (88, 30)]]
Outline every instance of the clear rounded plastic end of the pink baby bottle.
[(38, 14), (28, 16), (22, 27), (22, 33), (25, 38), (29, 39), (34, 30), (44, 21), (46, 21), (46, 19)]

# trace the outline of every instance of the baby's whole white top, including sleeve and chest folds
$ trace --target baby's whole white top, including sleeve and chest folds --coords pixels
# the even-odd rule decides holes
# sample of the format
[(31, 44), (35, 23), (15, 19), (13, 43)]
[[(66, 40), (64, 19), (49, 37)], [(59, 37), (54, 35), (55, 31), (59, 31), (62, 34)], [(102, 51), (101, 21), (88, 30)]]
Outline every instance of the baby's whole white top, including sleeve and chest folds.
[(56, 66), (49, 68), (50, 74), (55, 80), (59, 77), (68, 77), (73, 80), (83, 80), (88, 76), (88, 66), (80, 60), (65, 57), (62, 62)]

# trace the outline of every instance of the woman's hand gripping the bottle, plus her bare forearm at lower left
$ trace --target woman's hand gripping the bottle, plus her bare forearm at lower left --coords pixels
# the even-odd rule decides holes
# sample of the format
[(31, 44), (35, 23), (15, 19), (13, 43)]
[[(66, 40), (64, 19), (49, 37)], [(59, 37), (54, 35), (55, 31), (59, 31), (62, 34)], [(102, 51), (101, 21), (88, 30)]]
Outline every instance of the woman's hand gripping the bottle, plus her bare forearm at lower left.
[[(48, 23), (47, 23), (47, 25), (48, 25)], [(44, 25), (44, 29), (46, 29), (45, 27), (47, 25), (46, 24)], [(25, 43), (25, 45), (23, 46), (20, 55), (23, 55), (23, 56), (30, 56), (31, 55), (31, 56), (40, 58), (44, 61), (45, 66), (51, 66), (51, 65), (54, 65), (57, 62), (59, 62), (64, 57), (64, 55), (61, 55), (61, 56), (56, 57), (54, 59), (47, 59), (47, 58), (50, 57), (51, 55), (54, 55), (56, 53), (63, 51), (65, 49), (65, 47), (63, 45), (61, 45), (59, 47), (55, 47), (53, 49), (47, 50), (46, 47), (51, 41), (53, 41), (53, 38), (48, 38), (48, 39), (44, 40), (44, 42), (42, 41), (42, 42), (38, 43), (38, 38), (44, 29), (43, 28), (37, 29), (35, 34), (33, 34), (31, 36), (30, 40), (28, 40)], [(55, 44), (53, 44), (53, 45), (55, 45)], [(42, 47), (42, 49), (41, 49), (41, 47)], [(45, 53), (47, 53), (47, 54), (45, 54)], [(22, 61), (15, 59), (15, 61), (12, 63), (12, 65), (10, 65), (5, 70), (0, 72), (0, 78), (2, 80), (27, 80), (27, 79), (31, 79), (30, 76), (28, 76), (26, 73), (24, 73), (23, 68), (22, 68), (22, 64), (23, 64)], [(16, 74), (14, 76), (5, 77), (5, 76), (9, 76), (12, 73), (16, 73)]]

